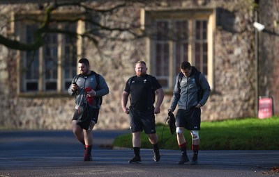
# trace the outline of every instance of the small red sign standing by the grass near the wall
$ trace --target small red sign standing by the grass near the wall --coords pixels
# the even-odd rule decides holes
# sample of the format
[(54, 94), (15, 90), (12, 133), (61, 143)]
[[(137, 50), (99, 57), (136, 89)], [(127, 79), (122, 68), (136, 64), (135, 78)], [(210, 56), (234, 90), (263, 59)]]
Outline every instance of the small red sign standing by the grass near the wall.
[(271, 97), (259, 97), (259, 110), (257, 117), (264, 119), (273, 116), (273, 99)]

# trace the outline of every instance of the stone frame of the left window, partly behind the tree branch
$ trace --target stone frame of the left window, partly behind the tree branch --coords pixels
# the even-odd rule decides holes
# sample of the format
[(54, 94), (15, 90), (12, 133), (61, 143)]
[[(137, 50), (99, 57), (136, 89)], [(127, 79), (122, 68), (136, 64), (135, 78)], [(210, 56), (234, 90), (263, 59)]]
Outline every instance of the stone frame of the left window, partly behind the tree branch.
[[(36, 14), (36, 13), (35, 13)], [(27, 14), (24, 14), (27, 15)], [(31, 13), (31, 15), (33, 15)], [(38, 14), (36, 14), (38, 15)], [(40, 15), (40, 14), (39, 14)], [(40, 16), (39, 16), (40, 17)], [(15, 16), (16, 18), (16, 16)], [(24, 21), (18, 21), (15, 22), (14, 26), (15, 26), (15, 35), (17, 35), (18, 39), (20, 39), (20, 41), (23, 42), (27, 42), (27, 29), (26, 26), (27, 25), (36, 25), (35, 22), (32, 21), (28, 21), (28, 20), (24, 20)], [(61, 28), (64, 24), (58, 24), (58, 27)], [(75, 26), (75, 30), (77, 33), (81, 32), (80, 26), (83, 26), (84, 22), (76, 22), (74, 24)], [(16, 31), (16, 28), (20, 29), (20, 31)], [(67, 53), (65, 53), (66, 47), (68, 47), (70, 44), (68, 44), (66, 42), (66, 37), (63, 36), (64, 34), (61, 33), (56, 33), (56, 37), (57, 37), (57, 56), (56, 56), (56, 78), (54, 79), (56, 82), (56, 89), (55, 90), (47, 90), (46, 89), (46, 81), (47, 79), (45, 78), (44, 72), (45, 72), (45, 45), (43, 47), (40, 47), (38, 49), (38, 80), (36, 80), (36, 82), (38, 82), (38, 89), (36, 90), (27, 90), (27, 77), (26, 74), (27, 72), (24, 71), (24, 67), (26, 60), (27, 60), (27, 51), (18, 51), (19, 55), (20, 55), (20, 60), (18, 60), (17, 65), (19, 66), (17, 69), (17, 75), (18, 75), (18, 81), (17, 81), (17, 94), (19, 96), (56, 96), (56, 95), (68, 95), (68, 86), (70, 85), (70, 82), (72, 81), (73, 77), (75, 76), (75, 74), (77, 74), (77, 57), (80, 56), (80, 53), (82, 53), (82, 47), (78, 46), (81, 45), (82, 42), (80, 42), (80, 40), (82, 40), (80, 37), (77, 37), (77, 40), (74, 42), (74, 44), (72, 46), (75, 47), (75, 56), (72, 56), (72, 62), (75, 62), (75, 66), (73, 67), (72, 65), (70, 65), (72, 62), (69, 62), (69, 67), (72, 68), (70, 69), (71, 72), (73, 73), (73, 77), (70, 76), (71, 78), (65, 78), (65, 71), (66, 71), (66, 67), (64, 67), (65, 65), (65, 57), (68, 56)], [(50, 79), (52, 80), (52, 79)], [(67, 84), (69, 83), (69, 84)]]

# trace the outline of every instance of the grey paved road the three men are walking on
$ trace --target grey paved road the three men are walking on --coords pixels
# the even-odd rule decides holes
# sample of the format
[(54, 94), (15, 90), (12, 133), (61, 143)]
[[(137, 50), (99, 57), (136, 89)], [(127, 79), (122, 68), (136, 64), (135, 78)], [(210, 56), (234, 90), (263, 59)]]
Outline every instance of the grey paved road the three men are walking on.
[[(200, 151), (198, 165), (176, 165), (179, 151), (161, 150), (160, 162), (142, 149), (142, 164), (128, 164), (132, 149), (112, 150), (114, 137), (127, 130), (93, 131), (93, 161), (70, 130), (0, 131), (0, 177), (11, 176), (279, 176), (279, 151)], [(174, 144), (176, 146), (176, 144)]]

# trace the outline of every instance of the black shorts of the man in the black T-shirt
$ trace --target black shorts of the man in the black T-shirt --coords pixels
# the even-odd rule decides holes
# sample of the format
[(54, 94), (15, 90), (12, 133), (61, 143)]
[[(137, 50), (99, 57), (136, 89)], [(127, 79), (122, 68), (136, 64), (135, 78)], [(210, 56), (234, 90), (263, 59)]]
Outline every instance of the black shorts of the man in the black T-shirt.
[(156, 133), (154, 110), (137, 111), (130, 108), (130, 130), (138, 132), (144, 130), (146, 134)]

